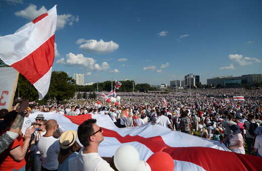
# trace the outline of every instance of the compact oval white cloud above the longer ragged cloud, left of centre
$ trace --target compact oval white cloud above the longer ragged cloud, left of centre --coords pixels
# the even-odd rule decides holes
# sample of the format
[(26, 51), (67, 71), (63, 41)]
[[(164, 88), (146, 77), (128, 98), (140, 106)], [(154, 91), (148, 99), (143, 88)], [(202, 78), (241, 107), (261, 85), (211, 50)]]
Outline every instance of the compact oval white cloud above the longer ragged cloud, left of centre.
[[(118, 49), (119, 45), (113, 42), (112, 40), (109, 42), (104, 42), (102, 39), (100, 41), (97, 40), (80, 40), (77, 42), (86, 42), (85, 44), (80, 45), (80, 49), (86, 53), (100, 53), (107, 54), (111, 53), (114, 50)], [(80, 43), (81, 44), (81, 43)]]

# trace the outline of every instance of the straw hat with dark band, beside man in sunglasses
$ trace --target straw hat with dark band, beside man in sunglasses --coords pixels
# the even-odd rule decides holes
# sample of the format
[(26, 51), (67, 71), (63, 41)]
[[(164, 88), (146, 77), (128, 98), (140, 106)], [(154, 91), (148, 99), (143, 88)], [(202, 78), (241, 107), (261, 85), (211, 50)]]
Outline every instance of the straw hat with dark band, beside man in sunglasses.
[(59, 139), (59, 146), (62, 149), (67, 149), (72, 146), (77, 140), (77, 131), (64, 131)]

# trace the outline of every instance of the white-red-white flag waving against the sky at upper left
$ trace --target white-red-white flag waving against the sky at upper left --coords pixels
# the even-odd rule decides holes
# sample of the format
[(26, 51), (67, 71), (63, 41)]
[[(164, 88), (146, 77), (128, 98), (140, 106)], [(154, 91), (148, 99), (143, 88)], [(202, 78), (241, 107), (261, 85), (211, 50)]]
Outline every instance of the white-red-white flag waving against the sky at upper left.
[(54, 6), (13, 35), (0, 37), (0, 58), (34, 85), (39, 100), (44, 98), (49, 89), (54, 61), (56, 17)]

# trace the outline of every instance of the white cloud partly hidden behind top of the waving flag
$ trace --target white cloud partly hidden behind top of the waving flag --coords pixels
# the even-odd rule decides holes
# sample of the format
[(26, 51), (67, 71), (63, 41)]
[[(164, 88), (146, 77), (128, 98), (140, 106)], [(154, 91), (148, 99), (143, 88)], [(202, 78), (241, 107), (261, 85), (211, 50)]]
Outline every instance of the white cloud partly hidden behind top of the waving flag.
[[(39, 10), (36, 9), (36, 5), (30, 4), (25, 10), (16, 12), (15, 15), (28, 20), (34, 20), (38, 16), (47, 12), (47, 9), (42, 6)], [(75, 17), (71, 14), (57, 15), (56, 30), (63, 29), (65, 25), (69, 24), (72, 26), (74, 22), (78, 22), (78, 16)]]

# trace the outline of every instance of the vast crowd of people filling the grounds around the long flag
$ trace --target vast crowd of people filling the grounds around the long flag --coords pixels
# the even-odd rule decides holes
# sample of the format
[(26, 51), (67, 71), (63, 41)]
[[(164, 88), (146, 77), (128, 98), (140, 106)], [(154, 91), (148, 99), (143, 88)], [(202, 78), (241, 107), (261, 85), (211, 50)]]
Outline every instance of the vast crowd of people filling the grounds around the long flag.
[[(261, 90), (257, 90), (256, 95), (241, 90), (250, 98), (245, 101), (227, 97), (235, 91), (192, 90), (164, 96), (160, 93), (117, 93), (121, 97), (117, 104), (102, 100), (100, 95), (96, 100), (82, 100), (78, 104), (71, 100), (63, 105), (49, 103), (28, 107), (28, 100), (23, 101), (20, 107), (13, 106), (11, 112), (0, 111), (0, 170), (26, 170), (29, 156), (33, 156), (33, 170), (68, 170), (70, 158), (76, 156), (78, 170), (113, 170), (110, 166), (112, 158), (101, 158), (98, 154), (103, 130), (96, 125), (96, 120), (85, 121), (77, 132), (61, 133), (57, 121), (47, 121), (43, 114), (31, 121), (29, 115), (37, 111), (71, 116), (108, 115), (119, 128), (152, 122), (172, 131), (220, 141), (236, 153), (245, 154), (246, 144), (248, 154), (261, 157), (262, 104), (259, 99), (250, 98), (261, 97)], [(101, 108), (97, 105), (99, 100), (102, 101)], [(77, 137), (82, 148), (76, 141)]]

